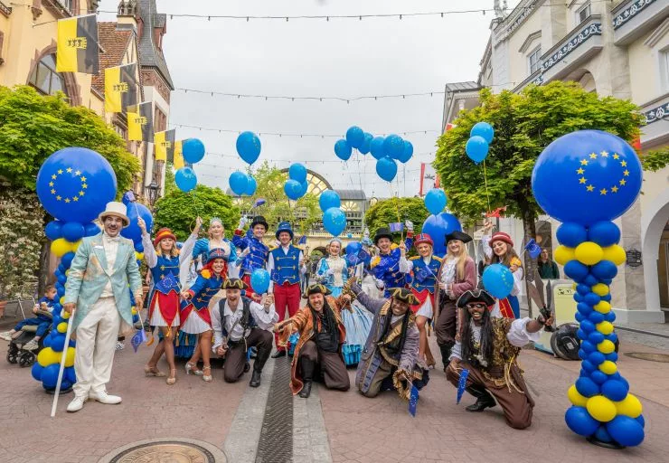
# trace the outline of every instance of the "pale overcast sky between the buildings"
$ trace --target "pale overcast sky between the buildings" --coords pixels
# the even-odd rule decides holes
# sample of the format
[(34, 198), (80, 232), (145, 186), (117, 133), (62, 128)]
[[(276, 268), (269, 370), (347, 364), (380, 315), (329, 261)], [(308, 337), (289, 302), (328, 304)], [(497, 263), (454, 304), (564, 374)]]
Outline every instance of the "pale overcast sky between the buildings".
[[(117, 0), (102, 0), (115, 11)], [(337, 137), (270, 136), (267, 133), (344, 137), (359, 126), (373, 135), (397, 133), (410, 140), (414, 156), (400, 165), (400, 196), (419, 192), (420, 163), (434, 160), (448, 82), (477, 80), (494, 14), (487, 12), (391, 18), (231, 20), (169, 14), (326, 15), (408, 14), (492, 8), (493, 0), (157, 0), (168, 14), (163, 50), (176, 89), (234, 94), (355, 98), (439, 91), (432, 97), (312, 101), (238, 99), (175, 90), (169, 123), (177, 139), (200, 138), (207, 149), (195, 165), (198, 182), (228, 187), (228, 177), (246, 164), (237, 156), (237, 133), (259, 134), (263, 160), (284, 168), (301, 162), (335, 189), (362, 189), (367, 197), (391, 196), (375, 172), (372, 155), (334, 155)], [(100, 14), (101, 21), (114, 14)], [(171, 127), (172, 128), (172, 127)], [(425, 132), (427, 131), (427, 133)], [(411, 133), (406, 136), (402, 132)]]

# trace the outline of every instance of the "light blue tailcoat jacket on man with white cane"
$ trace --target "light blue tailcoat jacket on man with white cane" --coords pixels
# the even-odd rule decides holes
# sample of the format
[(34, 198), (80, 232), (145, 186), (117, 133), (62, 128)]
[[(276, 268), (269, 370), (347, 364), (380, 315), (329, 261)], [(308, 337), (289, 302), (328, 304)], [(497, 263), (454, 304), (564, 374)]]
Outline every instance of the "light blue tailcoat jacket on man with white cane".
[[(118, 313), (127, 325), (132, 326), (130, 291), (136, 297), (142, 292), (142, 279), (139, 275), (132, 241), (120, 237), (114, 269), (108, 273), (107, 256), (102, 246), (102, 233), (84, 238), (72, 260), (65, 283), (64, 302), (77, 304), (72, 329), (79, 326), (81, 320), (89, 313), (90, 307), (93, 307), (98, 301), (109, 279), (111, 279), (111, 288), (116, 299)], [(130, 291), (128, 291), (128, 286)]]

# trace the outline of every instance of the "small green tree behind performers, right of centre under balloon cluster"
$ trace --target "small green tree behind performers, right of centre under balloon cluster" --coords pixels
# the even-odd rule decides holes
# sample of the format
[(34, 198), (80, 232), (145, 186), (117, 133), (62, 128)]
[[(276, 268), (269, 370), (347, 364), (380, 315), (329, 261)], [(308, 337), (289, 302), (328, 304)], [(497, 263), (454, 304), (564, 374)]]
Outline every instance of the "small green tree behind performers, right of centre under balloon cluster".
[[(398, 214), (399, 211), (399, 214)], [(398, 219), (399, 216), (399, 219)], [(364, 214), (364, 222), (370, 229), (373, 239), (377, 230), (388, 227), (389, 223), (411, 221), (420, 230), (421, 223), (429, 216), (425, 203), (421, 198), (391, 198), (374, 204)], [(395, 233), (399, 241), (400, 233)]]

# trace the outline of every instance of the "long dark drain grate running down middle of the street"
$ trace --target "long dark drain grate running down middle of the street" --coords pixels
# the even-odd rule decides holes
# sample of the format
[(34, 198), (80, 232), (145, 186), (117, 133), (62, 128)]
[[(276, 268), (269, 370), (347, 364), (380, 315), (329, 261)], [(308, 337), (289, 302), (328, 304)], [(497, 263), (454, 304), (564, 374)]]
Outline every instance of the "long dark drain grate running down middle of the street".
[(290, 362), (279, 358), (269, 385), (262, 420), (256, 463), (293, 461), (293, 392), (290, 390)]

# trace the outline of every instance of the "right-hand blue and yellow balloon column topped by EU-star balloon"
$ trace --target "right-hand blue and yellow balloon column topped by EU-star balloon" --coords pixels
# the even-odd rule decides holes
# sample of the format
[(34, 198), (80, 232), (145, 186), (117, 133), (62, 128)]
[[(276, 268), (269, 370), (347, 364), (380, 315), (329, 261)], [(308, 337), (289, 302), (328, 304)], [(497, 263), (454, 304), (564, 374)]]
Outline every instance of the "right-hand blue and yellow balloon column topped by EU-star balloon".
[[(559, 181), (556, 181), (559, 179)], [(580, 130), (553, 141), (532, 172), (537, 203), (563, 222), (555, 260), (576, 282), (577, 335), (582, 359), (579, 379), (567, 392), (570, 430), (607, 447), (644, 440), (641, 402), (617, 371), (609, 286), (625, 250), (617, 243), (616, 219), (636, 201), (641, 163), (623, 139), (599, 130)]]

